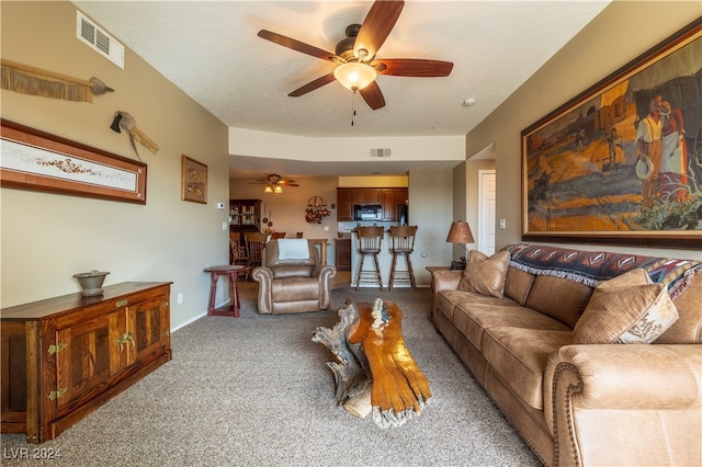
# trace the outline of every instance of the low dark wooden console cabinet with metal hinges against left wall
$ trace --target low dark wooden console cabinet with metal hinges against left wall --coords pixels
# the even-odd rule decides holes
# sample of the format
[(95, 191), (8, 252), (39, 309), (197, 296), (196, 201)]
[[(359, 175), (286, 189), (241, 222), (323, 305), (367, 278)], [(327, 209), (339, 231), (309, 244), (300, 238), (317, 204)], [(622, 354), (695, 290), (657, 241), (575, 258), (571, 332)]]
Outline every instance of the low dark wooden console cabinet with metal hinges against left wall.
[(58, 436), (171, 360), (170, 282), (127, 282), (1, 311), (3, 433)]

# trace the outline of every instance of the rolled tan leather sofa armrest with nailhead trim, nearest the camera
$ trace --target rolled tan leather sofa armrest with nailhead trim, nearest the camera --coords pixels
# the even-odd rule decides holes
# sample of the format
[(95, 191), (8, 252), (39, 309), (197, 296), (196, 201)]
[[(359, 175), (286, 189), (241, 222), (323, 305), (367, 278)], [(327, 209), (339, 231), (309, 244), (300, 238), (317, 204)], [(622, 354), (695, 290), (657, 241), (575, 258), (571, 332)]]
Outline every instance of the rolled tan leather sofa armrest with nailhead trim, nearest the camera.
[(702, 345), (566, 345), (544, 373), (555, 464), (702, 464)]

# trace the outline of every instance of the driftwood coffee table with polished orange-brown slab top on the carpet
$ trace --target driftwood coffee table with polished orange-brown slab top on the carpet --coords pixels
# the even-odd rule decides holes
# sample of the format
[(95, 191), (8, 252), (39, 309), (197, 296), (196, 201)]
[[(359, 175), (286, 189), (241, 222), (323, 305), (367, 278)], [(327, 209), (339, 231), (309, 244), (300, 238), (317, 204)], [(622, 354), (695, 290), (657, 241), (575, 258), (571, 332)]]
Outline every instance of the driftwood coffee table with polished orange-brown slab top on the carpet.
[[(337, 402), (350, 413), (381, 428), (400, 426), (418, 417), (431, 397), (429, 380), (405, 346), (403, 311), (384, 301), (386, 321), (374, 320), (373, 305), (359, 303), (339, 310), (333, 327), (317, 328), (314, 342), (326, 345), (339, 361), (328, 362), (336, 379)], [(380, 326), (378, 326), (380, 324)]]

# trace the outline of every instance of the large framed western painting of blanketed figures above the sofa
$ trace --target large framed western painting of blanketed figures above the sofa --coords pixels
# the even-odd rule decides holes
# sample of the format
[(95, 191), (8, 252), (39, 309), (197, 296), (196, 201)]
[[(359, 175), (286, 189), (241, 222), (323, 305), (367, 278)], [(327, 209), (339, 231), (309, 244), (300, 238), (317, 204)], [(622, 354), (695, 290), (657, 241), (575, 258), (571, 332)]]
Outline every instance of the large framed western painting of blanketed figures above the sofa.
[(702, 248), (702, 22), (524, 129), (522, 239)]

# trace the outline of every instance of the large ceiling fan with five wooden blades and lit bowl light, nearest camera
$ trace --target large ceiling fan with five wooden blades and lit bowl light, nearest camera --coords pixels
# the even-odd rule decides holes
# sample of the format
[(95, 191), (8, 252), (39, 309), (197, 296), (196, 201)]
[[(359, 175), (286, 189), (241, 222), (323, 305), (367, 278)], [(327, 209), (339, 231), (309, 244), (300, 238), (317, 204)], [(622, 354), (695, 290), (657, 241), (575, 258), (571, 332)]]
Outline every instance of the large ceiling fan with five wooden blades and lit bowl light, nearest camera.
[(335, 54), (267, 30), (259, 31), (258, 35), (283, 47), (337, 64), (331, 73), (317, 78), (287, 95), (297, 98), (336, 80), (354, 93), (359, 91), (369, 106), (377, 110), (385, 106), (385, 98), (375, 82), (377, 75), (433, 78), (446, 77), (453, 69), (451, 61), (375, 58), (404, 7), (404, 1), (375, 1), (363, 24), (347, 27), (347, 37), (337, 44)]

